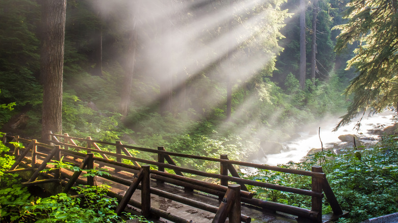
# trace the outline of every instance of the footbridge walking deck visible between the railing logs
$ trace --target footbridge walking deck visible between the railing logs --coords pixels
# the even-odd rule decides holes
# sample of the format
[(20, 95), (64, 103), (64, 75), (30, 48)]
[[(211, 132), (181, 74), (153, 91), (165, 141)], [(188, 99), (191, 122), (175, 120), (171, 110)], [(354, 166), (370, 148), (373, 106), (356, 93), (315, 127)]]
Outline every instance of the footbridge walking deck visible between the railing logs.
[[(26, 159), (29, 160), (29, 159)], [(64, 157), (63, 161), (65, 162), (72, 162), (72, 163), (81, 163), (81, 159), (73, 159), (72, 157)], [(28, 162), (21, 163), (23, 166), (29, 166)], [(42, 159), (37, 159), (37, 163), (40, 164), (42, 163)], [(129, 173), (126, 171), (118, 171), (115, 172), (113, 168), (109, 168), (108, 166), (101, 166), (101, 168), (106, 168), (108, 169), (108, 172), (112, 176), (120, 177), (126, 180), (133, 180), (134, 179), (134, 174)], [(62, 170), (62, 175), (68, 175), (71, 176), (73, 173), (68, 170)], [(80, 182), (86, 181), (85, 177), (80, 176), (79, 177)], [(79, 182), (79, 181), (78, 181)], [(102, 185), (106, 184), (111, 186), (111, 191), (113, 193), (118, 194), (119, 196), (124, 196), (126, 193), (127, 189), (129, 188), (127, 185), (120, 184), (114, 181), (110, 181), (108, 179), (96, 176), (95, 177), (95, 182), (97, 185)], [(164, 184), (158, 184), (155, 180), (151, 180), (151, 187), (161, 189), (163, 191), (172, 193), (172, 194), (177, 194), (179, 196), (199, 201), (205, 204), (209, 204), (215, 207), (218, 207), (220, 205), (220, 201), (218, 200), (217, 196), (213, 196), (211, 194), (205, 194), (200, 191), (194, 190), (193, 192), (186, 192), (184, 191), (183, 187), (175, 186), (172, 184), (164, 183)], [(131, 198), (131, 200), (141, 202), (141, 190), (137, 189)], [(155, 194), (151, 194), (151, 207), (161, 209), (163, 211), (166, 211), (168, 213), (171, 213), (173, 215), (177, 215), (179, 217), (185, 218), (187, 220), (192, 220), (192, 222), (196, 223), (208, 223), (211, 222), (212, 219), (214, 218), (214, 213), (201, 210), (189, 205), (185, 205), (170, 199), (165, 199), (163, 197), (159, 197)], [(129, 208), (136, 213), (140, 213), (140, 209), (129, 206)], [(266, 212), (261, 210), (259, 207), (255, 207), (252, 205), (247, 205), (242, 203), (242, 208), (241, 208), (241, 213), (247, 216), (250, 216), (252, 218), (251, 222), (255, 223), (260, 223), (260, 222), (270, 222), (270, 223), (297, 223), (296, 217), (295, 216), (288, 216), (284, 213), (272, 213), (272, 212)], [(164, 218), (160, 219), (151, 219), (155, 223), (162, 222), (162, 223), (168, 223), (172, 222)], [(228, 222), (228, 219), (227, 221)]]

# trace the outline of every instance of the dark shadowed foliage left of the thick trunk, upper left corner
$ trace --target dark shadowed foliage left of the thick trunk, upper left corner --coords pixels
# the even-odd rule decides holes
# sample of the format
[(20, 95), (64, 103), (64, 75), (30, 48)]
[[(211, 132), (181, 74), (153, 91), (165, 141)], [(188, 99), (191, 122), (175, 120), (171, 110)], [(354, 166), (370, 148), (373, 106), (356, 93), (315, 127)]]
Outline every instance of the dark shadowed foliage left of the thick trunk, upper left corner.
[(0, 100), (22, 106), (40, 91), (39, 40), (35, 23), (40, 18), (34, 1), (0, 1)]

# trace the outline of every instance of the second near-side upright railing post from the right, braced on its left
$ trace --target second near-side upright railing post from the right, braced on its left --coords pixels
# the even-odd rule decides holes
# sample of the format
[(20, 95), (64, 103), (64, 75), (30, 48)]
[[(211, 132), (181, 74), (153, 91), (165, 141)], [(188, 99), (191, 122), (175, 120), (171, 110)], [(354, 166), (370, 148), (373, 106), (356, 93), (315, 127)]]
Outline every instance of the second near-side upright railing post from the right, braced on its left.
[(141, 211), (142, 216), (151, 217), (151, 178), (150, 165), (142, 165), (143, 177), (141, 181)]

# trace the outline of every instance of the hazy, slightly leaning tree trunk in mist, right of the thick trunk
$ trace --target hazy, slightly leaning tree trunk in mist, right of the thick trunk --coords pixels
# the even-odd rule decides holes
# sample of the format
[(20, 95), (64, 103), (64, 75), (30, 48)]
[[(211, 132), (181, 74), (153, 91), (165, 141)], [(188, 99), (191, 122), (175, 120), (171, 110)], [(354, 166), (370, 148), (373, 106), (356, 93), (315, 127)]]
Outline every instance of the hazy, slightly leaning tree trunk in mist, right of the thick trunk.
[(133, 87), (134, 66), (136, 61), (137, 37), (136, 31), (132, 31), (129, 38), (129, 49), (127, 52), (127, 60), (125, 61), (125, 76), (123, 78), (123, 86), (120, 95), (120, 114), (124, 121), (129, 114), (131, 104), (131, 89)]

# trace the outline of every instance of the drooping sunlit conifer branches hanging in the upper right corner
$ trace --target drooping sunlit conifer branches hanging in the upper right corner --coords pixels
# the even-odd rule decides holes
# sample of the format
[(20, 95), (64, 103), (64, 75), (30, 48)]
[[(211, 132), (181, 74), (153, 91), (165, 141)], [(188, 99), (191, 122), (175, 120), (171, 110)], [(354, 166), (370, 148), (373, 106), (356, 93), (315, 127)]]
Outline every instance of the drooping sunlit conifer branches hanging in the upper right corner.
[(358, 43), (347, 69), (354, 67), (359, 74), (345, 91), (354, 98), (336, 129), (367, 109), (379, 113), (394, 106), (398, 110), (397, 1), (352, 0), (347, 6), (347, 23), (337, 26), (341, 33), (336, 50)]

